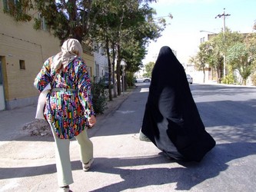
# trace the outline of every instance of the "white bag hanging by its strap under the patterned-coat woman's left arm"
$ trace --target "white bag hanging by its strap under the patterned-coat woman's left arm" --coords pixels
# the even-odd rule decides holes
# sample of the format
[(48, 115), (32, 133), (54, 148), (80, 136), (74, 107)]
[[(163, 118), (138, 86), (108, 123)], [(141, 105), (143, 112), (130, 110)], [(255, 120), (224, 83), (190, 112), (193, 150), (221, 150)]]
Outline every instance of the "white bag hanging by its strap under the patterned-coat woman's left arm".
[(45, 111), (45, 103), (46, 103), (46, 97), (48, 92), (52, 90), (52, 84), (55, 81), (55, 78), (57, 76), (57, 73), (55, 74), (55, 77), (53, 78), (51, 83), (48, 83), (44, 90), (39, 94), (38, 97), (38, 106), (36, 108), (35, 112), (35, 118), (36, 119), (45, 119), (44, 111)]

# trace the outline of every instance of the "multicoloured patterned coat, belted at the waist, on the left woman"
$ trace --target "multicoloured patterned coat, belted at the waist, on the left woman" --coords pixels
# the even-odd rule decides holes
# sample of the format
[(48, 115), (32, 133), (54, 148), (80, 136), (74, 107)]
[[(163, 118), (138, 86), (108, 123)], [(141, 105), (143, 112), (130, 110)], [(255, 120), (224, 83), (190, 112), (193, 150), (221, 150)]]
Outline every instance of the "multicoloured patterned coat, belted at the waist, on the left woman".
[[(35, 78), (35, 88), (43, 91), (52, 82), (55, 71), (51, 71), (48, 58)], [(92, 106), (91, 81), (85, 61), (77, 57), (57, 74), (53, 88), (71, 88), (75, 91), (52, 91), (47, 96), (45, 118), (55, 127), (61, 139), (70, 139), (88, 127), (88, 117), (95, 114)]]

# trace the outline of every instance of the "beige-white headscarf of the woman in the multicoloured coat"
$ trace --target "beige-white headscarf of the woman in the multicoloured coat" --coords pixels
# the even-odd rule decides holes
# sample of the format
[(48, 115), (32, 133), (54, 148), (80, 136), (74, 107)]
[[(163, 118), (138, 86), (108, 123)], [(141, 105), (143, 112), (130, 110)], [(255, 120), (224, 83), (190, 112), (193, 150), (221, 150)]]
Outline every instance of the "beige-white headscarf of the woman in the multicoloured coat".
[(56, 71), (59, 68), (67, 67), (68, 64), (73, 61), (77, 56), (80, 57), (82, 54), (82, 48), (80, 42), (75, 38), (68, 38), (63, 45), (62, 51), (58, 52), (53, 59), (51, 71)]

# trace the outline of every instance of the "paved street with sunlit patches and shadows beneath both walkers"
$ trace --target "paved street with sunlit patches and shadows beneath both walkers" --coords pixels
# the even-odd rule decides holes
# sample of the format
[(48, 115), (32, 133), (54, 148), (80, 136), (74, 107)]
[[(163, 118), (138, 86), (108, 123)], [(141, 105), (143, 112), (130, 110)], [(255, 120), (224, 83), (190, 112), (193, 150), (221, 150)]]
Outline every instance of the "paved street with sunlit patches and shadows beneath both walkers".
[[(206, 130), (217, 143), (194, 163), (170, 160), (151, 142), (139, 141), (148, 85), (138, 84), (88, 131), (95, 151), (89, 172), (81, 170), (77, 143), (71, 141), (72, 191), (256, 191), (256, 88), (190, 85)], [(8, 123), (0, 128), (11, 135)], [(0, 191), (56, 190), (52, 137), (0, 138)]]

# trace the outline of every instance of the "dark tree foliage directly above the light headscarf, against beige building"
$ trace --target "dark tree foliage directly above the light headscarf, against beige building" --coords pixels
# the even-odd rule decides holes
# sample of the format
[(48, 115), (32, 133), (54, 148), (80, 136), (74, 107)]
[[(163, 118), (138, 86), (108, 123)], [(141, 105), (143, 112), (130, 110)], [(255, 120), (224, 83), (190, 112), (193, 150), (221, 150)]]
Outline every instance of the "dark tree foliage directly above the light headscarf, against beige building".
[[(76, 38), (80, 42), (87, 39), (88, 31), (95, 21), (95, 15), (100, 11), (98, 5), (101, 3), (99, 0), (20, 0), (17, 2), (23, 10), (34, 10), (40, 14), (40, 18), (37, 18), (36, 14), (30, 15), (30, 12), (23, 12), (23, 15), (35, 20), (35, 29), (41, 28), (42, 19), (45, 19), (48, 29), (60, 39), (61, 43), (67, 38)], [(18, 12), (14, 15), (17, 21), (29, 21), (25, 16), (18, 17), (18, 15), (20, 15)]]

